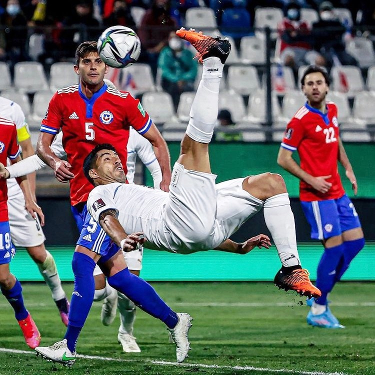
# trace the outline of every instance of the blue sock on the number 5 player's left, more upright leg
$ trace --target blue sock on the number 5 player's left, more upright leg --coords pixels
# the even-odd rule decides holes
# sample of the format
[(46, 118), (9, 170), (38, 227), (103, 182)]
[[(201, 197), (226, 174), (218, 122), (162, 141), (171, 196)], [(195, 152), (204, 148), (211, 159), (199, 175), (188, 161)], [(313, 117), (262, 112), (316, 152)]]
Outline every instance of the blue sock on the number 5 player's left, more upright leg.
[(88, 255), (74, 252), (71, 268), (74, 273), (74, 291), (71, 294), (69, 324), (64, 338), (66, 338), (68, 349), (74, 352), (79, 333), (92, 305), (95, 290), (92, 273), (95, 262)]

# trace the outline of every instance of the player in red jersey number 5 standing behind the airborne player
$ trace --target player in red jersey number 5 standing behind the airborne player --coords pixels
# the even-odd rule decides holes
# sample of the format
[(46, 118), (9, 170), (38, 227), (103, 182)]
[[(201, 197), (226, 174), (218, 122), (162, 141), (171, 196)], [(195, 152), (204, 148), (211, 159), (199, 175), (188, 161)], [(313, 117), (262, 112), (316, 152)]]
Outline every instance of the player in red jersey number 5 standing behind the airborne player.
[[(72, 212), (80, 230), (72, 259), (74, 291), (67, 330), (63, 340), (47, 347), (50, 353), (48, 359), (67, 365), (75, 361), (75, 345), (92, 304), (92, 273), (96, 262), (111, 286), (162, 320), (168, 328), (180, 329), (179, 324), (186, 324), (178, 323), (176, 312), (165, 304), (149, 284), (129, 273), (121, 249), (110, 240), (86, 208), (92, 185), (84, 177), (83, 160), (97, 144), (113, 144), (118, 149), (122, 165), (126, 165), (126, 145), (129, 126), (132, 126), (153, 145), (162, 172), (160, 188), (168, 191), (170, 163), (166, 143), (139, 100), (103, 82), (108, 68), (97, 53), (95, 41), (81, 43), (75, 57), (74, 71), (79, 75), (79, 84), (57, 90), (53, 95), (40, 126), (41, 133), (36, 147), (38, 156), (54, 169), (56, 178), (62, 182), (69, 180)], [(67, 161), (59, 159), (49, 147), (60, 129), (63, 130), (62, 144)], [(133, 244), (134, 237), (129, 235), (121, 247), (127, 248)], [(177, 349), (179, 345), (186, 346), (186, 341), (187, 336), (179, 335), (175, 339)], [(36, 351), (47, 357), (43, 348), (36, 348)]]

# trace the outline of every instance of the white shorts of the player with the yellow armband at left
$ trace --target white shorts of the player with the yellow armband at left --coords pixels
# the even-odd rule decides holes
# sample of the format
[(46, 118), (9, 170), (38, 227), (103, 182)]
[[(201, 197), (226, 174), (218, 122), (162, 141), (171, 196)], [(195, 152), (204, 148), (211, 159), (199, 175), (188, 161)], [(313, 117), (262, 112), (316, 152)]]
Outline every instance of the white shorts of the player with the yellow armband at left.
[(7, 204), (13, 245), (32, 247), (42, 244), (45, 241), (45, 236), (40, 222), (25, 210), (23, 194), (10, 196)]

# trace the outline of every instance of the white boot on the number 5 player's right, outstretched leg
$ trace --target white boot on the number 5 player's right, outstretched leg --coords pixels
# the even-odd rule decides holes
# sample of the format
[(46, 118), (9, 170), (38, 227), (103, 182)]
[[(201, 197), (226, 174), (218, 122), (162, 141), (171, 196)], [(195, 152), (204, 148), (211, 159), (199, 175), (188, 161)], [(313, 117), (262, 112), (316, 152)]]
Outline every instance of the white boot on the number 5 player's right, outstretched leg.
[(187, 333), (191, 327), (191, 320), (193, 318), (186, 312), (177, 312), (178, 322), (174, 328), (166, 328), (169, 334), (176, 344), (176, 360), (178, 363), (182, 363), (188, 356), (187, 353), (190, 350), (190, 343), (187, 337)]

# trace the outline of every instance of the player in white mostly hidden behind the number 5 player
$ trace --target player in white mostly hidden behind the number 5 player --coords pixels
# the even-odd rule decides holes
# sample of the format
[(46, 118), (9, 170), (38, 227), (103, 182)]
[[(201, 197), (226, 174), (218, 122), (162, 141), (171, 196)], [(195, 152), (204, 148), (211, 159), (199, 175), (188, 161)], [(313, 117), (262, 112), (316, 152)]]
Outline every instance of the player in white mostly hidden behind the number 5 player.
[[(61, 131), (53, 140), (51, 148), (58, 157), (65, 155), (65, 150), (62, 146)], [(134, 183), (135, 161), (137, 156), (151, 173), (154, 187), (159, 188), (162, 174), (152, 146), (147, 139), (130, 127), (126, 161), (126, 178), (129, 183)], [(1, 172), (3, 169), (0, 167), (0, 177), (18, 177), (45, 166), (46, 164), (36, 154), (33, 154), (12, 166), (7, 166), (6, 170), (3, 171), (3, 174)], [(139, 276), (139, 271), (142, 268), (142, 251), (143, 249), (140, 246), (137, 251), (123, 252), (127, 267), (131, 273), (134, 273), (137, 276)], [(118, 305), (120, 326), (118, 328), (117, 340), (121, 343), (124, 352), (140, 352), (140, 348), (133, 336), (133, 324), (135, 320), (134, 303), (107, 283), (98, 265), (96, 265), (93, 274), (95, 279), (94, 301), (104, 300), (100, 314), (102, 323), (104, 325), (109, 325), (113, 321), (116, 314), (116, 307)]]

